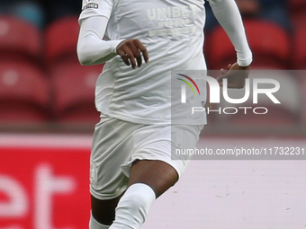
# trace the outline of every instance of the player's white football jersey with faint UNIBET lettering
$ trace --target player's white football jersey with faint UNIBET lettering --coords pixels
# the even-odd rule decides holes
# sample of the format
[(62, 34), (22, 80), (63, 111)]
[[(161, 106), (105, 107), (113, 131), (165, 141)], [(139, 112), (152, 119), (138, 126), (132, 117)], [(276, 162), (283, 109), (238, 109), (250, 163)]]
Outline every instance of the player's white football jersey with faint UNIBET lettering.
[[(106, 62), (95, 88), (97, 110), (135, 123), (171, 123), (171, 71), (206, 70), (203, 4), (203, 0), (84, 0), (80, 20), (107, 17), (105, 40), (138, 39), (149, 57), (149, 63), (143, 61), (137, 69), (126, 66), (119, 55)], [(201, 93), (205, 101), (206, 91)], [(193, 119), (186, 113), (175, 114), (175, 122), (206, 124), (204, 112)]]

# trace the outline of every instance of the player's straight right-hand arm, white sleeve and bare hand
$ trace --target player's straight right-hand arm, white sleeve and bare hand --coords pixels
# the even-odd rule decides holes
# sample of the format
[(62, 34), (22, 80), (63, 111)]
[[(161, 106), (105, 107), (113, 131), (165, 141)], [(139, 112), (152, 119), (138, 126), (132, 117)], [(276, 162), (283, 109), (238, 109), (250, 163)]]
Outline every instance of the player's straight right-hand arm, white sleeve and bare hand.
[(247, 36), (238, 6), (234, 0), (209, 0), (209, 2), (213, 14), (228, 34), (229, 40), (237, 52), (237, 63), (229, 65), (227, 71), (221, 69), (218, 81), (221, 82), (226, 77), (229, 80), (229, 87), (243, 87), (253, 57), (247, 44)]

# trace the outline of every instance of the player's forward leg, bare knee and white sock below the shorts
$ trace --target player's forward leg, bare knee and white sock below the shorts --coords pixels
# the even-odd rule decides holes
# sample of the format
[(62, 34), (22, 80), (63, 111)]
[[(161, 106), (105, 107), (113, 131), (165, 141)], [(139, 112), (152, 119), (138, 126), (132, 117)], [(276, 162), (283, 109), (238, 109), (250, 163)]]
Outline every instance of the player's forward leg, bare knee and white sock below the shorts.
[(118, 203), (110, 229), (140, 228), (154, 200), (177, 180), (177, 172), (168, 163), (157, 160), (132, 163), (129, 188)]

